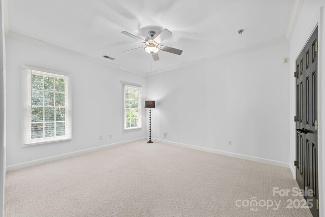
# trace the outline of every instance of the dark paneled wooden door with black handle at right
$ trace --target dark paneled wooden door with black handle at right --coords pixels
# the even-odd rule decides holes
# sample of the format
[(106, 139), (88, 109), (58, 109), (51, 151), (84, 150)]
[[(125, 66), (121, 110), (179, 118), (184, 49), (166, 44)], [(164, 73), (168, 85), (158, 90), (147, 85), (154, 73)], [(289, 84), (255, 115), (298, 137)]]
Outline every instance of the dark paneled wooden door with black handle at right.
[[(296, 174), (305, 199), (312, 202), (313, 216), (318, 212), (318, 148), (317, 148), (317, 39), (314, 30), (296, 60)], [(307, 191), (306, 191), (307, 190)], [(307, 194), (312, 190), (311, 194)], [(311, 192), (311, 191), (309, 191)]]

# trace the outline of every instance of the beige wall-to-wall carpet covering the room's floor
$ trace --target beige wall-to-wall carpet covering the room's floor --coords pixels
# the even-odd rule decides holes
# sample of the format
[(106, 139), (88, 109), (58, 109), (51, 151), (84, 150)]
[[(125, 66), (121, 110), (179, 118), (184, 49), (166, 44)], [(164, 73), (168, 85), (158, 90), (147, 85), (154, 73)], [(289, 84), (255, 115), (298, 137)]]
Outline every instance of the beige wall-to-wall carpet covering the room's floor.
[[(287, 168), (143, 141), (8, 172), (5, 216), (311, 216), (272, 187), (298, 185)], [(235, 204), (252, 197), (281, 203)]]

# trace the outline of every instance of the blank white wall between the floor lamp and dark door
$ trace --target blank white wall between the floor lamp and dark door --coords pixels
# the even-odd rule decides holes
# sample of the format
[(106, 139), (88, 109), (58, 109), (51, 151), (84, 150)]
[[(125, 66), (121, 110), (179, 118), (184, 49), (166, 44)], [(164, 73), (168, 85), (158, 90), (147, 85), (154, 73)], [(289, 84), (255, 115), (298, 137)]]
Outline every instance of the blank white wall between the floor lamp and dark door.
[(152, 137), (288, 163), (288, 55), (285, 42), (148, 76)]

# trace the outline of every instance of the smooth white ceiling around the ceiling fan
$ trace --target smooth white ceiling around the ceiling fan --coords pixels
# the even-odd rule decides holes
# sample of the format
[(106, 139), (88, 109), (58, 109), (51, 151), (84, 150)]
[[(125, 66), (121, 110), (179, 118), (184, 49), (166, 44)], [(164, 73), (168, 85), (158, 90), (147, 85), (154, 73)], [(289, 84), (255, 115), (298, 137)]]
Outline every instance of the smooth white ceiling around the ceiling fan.
[[(134, 71), (150, 73), (212, 55), (284, 38), (295, 0), (9, 0), (9, 30)], [(151, 29), (173, 35), (161, 44), (183, 50), (140, 50)], [(237, 31), (244, 29), (242, 35)], [(131, 70), (131, 71), (132, 71)]]

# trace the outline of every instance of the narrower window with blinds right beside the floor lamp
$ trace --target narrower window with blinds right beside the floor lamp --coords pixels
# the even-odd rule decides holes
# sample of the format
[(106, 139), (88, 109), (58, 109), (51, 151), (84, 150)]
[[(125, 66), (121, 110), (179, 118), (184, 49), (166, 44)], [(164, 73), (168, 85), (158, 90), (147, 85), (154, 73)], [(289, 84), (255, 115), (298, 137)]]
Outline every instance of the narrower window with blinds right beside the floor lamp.
[(124, 84), (124, 130), (141, 129), (141, 87)]

